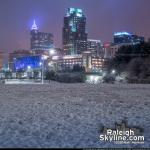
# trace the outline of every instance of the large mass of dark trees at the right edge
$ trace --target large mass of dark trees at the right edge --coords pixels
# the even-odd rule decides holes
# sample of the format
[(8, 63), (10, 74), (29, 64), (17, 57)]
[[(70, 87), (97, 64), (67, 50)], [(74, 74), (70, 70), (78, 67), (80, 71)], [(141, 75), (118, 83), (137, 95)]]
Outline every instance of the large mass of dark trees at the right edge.
[(108, 71), (126, 72), (130, 82), (150, 83), (150, 42), (122, 46), (108, 63)]

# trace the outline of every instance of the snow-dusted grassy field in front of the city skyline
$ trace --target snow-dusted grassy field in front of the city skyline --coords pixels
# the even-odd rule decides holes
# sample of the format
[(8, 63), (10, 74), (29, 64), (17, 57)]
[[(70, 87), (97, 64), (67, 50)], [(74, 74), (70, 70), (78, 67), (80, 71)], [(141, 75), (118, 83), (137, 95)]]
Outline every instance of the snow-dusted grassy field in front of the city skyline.
[[(128, 120), (144, 145), (99, 141), (102, 126)], [(150, 147), (150, 85), (0, 84), (0, 147)]]

